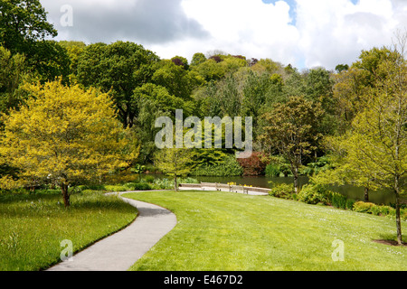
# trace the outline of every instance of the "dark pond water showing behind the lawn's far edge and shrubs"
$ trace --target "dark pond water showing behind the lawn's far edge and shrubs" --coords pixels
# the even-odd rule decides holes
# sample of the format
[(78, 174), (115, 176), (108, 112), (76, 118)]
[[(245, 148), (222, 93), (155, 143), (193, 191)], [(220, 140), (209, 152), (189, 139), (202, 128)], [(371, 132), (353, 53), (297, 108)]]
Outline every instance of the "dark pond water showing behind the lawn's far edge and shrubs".
[[(159, 178), (164, 178), (163, 175), (155, 175)], [(270, 182), (279, 184), (279, 183), (293, 183), (292, 177), (266, 177), (266, 176), (239, 176), (239, 177), (196, 177), (192, 178), (197, 179), (199, 182), (219, 182), (219, 183), (228, 183), (236, 182), (241, 185), (251, 185), (253, 187), (260, 188), (271, 188), (272, 184)], [(308, 177), (299, 177), (299, 185), (303, 186), (308, 183)], [(331, 186), (329, 188), (331, 191), (337, 191), (342, 193), (349, 199), (353, 200), (364, 200), (364, 188), (358, 188), (352, 185), (344, 186)], [(389, 205), (390, 203), (395, 203), (395, 198), (392, 192), (388, 191), (370, 191), (369, 192), (369, 201), (376, 204), (385, 204)]]

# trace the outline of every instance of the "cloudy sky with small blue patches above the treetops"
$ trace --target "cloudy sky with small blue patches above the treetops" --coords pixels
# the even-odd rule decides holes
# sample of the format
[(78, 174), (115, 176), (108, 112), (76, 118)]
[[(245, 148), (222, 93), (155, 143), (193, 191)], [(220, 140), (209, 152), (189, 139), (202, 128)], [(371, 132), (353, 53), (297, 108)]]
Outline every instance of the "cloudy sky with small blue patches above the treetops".
[(406, 0), (40, 0), (55, 40), (129, 41), (189, 61), (224, 51), (302, 69), (352, 64), (406, 32)]

